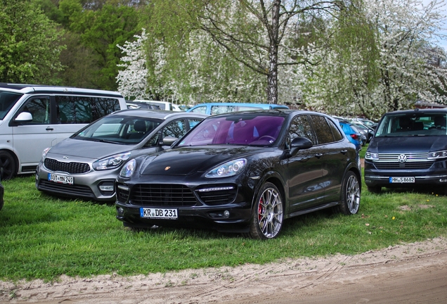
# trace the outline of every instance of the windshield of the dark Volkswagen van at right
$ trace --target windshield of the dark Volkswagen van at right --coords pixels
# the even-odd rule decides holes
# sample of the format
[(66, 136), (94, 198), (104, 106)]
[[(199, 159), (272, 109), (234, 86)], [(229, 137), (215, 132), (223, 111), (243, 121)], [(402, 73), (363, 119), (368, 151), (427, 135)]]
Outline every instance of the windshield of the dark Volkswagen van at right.
[(375, 137), (446, 135), (446, 122), (446, 113), (386, 115), (377, 127)]

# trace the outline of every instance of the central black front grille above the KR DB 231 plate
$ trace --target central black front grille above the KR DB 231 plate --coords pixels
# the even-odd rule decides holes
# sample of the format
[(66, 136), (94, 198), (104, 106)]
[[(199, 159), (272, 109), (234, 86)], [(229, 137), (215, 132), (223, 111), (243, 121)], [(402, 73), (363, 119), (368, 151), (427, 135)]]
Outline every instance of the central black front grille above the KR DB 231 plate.
[(164, 207), (187, 207), (197, 203), (187, 186), (175, 184), (136, 184), (130, 199), (134, 205)]

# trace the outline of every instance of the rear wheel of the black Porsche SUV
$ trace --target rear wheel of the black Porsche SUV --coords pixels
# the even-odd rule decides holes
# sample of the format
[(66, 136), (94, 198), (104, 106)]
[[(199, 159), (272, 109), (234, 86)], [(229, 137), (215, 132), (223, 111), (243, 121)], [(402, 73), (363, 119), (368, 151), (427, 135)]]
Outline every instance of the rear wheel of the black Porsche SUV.
[(360, 207), (360, 184), (357, 175), (349, 171), (346, 173), (342, 184), (342, 201), (339, 210), (345, 215), (353, 215)]

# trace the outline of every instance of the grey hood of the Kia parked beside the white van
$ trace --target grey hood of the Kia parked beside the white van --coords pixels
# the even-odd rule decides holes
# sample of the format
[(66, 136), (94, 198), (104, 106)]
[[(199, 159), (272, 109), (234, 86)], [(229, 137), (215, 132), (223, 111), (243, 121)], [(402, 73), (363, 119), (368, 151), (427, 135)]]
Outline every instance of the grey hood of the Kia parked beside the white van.
[(63, 156), (80, 156), (83, 158), (101, 159), (117, 153), (131, 151), (135, 146), (110, 144), (99, 141), (84, 141), (79, 139), (65, 139), (53, 146), (48, 152)]

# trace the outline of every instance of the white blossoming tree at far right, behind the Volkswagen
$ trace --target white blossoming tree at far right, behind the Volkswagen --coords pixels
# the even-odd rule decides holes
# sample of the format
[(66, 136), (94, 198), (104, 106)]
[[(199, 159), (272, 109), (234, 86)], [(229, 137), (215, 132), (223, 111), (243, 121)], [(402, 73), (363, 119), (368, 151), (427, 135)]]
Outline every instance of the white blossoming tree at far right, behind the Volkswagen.
[[(432, 64), (446, 60), (445, 52), (434, 46), (445, 18), (442, 6), (437, 0), (427, 5), (418, 0), (365, 0), (363, 14), (375, 42), (365, 49), (355, 37), (351, 46), (337, 49), (335, 35), (329, 49), (316, 49), (311, 56), (321, 64), (300, 70), (306, 104), (338, 115), (378, 118), (389, 110), (412, 108), (417, 99), (446, 103), (446, 96), (436, 91), (446, 91), (446, 69)], [(333, 29), (337, 23), (332, 21)]]

